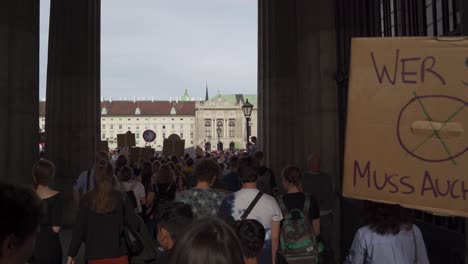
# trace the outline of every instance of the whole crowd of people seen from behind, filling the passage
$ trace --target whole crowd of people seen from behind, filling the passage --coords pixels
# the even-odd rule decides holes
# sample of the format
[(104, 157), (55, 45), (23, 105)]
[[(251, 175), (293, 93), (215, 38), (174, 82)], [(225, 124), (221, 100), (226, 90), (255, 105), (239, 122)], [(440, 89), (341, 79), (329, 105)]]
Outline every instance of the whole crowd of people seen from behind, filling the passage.
[[(9, 212), (0, 218), (0, 264), (59, 264), (62, 250), (74, 264), (83, 244), (88, 264), (334, 263), (324, 257), (330, 236), (322, 225), (330, 224), (333, 187), (323, 185), (319, 157), (306, 172), (284, 168), (283, 191), (263, 159), (255, 151), (131, 163), (97, 152), (74, 184), (79, 209), (63, 249), (63, 198), (49, 187), (53, 162), (42, 159), (33, 167), (35, 192), (0, 184), (0, 210)], [(322, 184), (317, 193), (304, 188), (310, 177)], [(421, 231), (398, 205), (367, 202), (364, 212), (346, 264), (429, 263)]]

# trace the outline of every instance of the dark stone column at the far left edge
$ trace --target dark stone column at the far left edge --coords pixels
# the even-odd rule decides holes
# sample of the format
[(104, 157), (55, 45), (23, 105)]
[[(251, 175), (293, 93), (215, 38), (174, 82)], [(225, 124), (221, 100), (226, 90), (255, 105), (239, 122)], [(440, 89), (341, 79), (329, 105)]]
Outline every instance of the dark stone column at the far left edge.
[(31, 184), (39, 156), (39, 1), (0, 1), (0, 180)]

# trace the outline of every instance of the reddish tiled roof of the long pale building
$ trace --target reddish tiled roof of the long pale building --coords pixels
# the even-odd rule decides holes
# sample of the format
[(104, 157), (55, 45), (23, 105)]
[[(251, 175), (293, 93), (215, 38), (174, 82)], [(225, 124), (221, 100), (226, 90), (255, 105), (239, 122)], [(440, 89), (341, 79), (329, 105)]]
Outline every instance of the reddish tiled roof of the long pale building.
[[(135, 115), (135, 110), (140, 108), (141, 115), (162, 116), (170, 115), (172, 107), (175, 107), (176, 115), (195, 115), (194, 101), (113, 101), (101, 102), (101, 110), (103, 107), (107, 109), (107, 115)], [(45, 102), (39, 103), (39, 115), (45, 116)]]

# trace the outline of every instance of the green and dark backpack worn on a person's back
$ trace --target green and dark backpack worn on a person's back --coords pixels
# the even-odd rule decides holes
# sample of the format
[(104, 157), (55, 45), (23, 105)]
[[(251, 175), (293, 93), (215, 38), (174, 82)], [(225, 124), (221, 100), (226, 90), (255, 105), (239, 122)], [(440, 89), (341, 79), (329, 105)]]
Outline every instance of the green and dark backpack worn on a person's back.
[(310, 197), (306, 197), (304, 210), (293, 209), (288, 211), (283, 197), (280, 199), (280, 208), (283, 221), (280, 230), (280, 262), (288, 264), (314, 264), (318, 263), (317, 239), (308, 219)]

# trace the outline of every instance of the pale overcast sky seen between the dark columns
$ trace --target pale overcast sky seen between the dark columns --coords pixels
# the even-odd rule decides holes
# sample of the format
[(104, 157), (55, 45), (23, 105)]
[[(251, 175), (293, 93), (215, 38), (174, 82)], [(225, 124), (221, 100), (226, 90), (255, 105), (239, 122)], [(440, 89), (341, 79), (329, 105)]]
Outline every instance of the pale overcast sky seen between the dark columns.
[[(169, 99), (257, 93), (256, 0), (101, 0), (101, 90)], [(50, 0), (41, 0), (45, 97)]]

